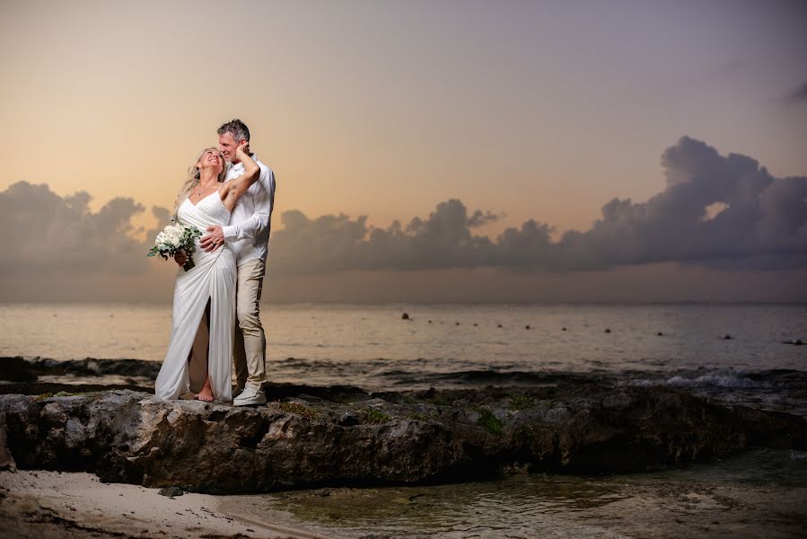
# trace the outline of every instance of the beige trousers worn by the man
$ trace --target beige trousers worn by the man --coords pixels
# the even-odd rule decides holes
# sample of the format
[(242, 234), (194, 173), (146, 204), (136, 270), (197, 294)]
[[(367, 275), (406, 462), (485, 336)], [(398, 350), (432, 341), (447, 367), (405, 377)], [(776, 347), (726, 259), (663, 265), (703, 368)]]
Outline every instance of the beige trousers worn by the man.
[(232, 359), (238, 385), (260, 387), (267, 381), (267, 340), (260, 325), (259, 302), (263, 289), (266, 263), (260, 259), (244, 262), (238, 267), (235, 288), (235, 326)]

